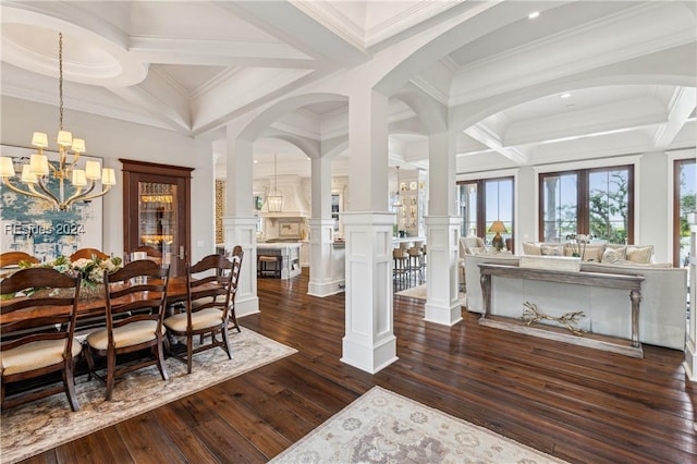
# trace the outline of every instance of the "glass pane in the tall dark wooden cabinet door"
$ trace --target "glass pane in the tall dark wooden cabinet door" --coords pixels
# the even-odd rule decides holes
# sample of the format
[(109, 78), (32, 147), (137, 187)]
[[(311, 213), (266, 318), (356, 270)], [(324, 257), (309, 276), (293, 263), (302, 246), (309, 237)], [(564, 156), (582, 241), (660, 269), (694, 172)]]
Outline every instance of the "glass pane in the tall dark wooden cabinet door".
[(158, 182), (138, 183), (138, 243), (162, 253), (166, 262), (176, 255), (178, 187)]

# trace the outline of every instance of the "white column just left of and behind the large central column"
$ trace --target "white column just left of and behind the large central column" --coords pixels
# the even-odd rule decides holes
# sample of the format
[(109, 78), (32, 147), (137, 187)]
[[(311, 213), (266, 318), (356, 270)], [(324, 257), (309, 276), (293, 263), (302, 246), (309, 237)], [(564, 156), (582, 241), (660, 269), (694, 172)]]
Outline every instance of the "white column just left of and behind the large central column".
[[(327, 296), (344, 288), (343, 270), (334, 272), (331, 219), (331, 159), (313, 158), (313, 219), (309, 220), (309, 283), (307, 294)], [(343, 253), (343, 251), (342, 251)]]

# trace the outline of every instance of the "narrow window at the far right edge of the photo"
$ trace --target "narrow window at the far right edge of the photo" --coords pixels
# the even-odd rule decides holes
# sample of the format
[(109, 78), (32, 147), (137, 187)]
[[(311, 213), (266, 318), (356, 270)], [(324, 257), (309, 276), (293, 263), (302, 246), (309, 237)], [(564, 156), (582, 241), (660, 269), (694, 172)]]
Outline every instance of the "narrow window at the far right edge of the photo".
[(695, 159), (675, 160), (673, 169), (673, 266), (687, 266), (689, 224), (687, 213), (695, 210)]

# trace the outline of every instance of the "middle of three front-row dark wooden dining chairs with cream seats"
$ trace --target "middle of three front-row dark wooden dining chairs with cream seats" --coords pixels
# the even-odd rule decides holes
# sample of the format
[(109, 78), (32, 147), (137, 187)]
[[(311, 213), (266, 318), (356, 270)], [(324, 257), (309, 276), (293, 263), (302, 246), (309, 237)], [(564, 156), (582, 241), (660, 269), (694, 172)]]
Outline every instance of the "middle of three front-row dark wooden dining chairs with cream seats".
[[(117, 377), (145, 366), (157, 365), (162, 380), (169, 378), (162, 346), (162, 319), (167, 302), (169, 268), (147, 259), (131, 261), (113, 273), (105, 271), (107, 327), (87, 335), (85, 357), (89, 377), (107, 384), (106, 399), (112, 398)], [(117, 356), (150, 349), (151, 358), (135, 359), (117, 369)], [(107, 358), (107, 375), (95, 371), (94, 355)]]

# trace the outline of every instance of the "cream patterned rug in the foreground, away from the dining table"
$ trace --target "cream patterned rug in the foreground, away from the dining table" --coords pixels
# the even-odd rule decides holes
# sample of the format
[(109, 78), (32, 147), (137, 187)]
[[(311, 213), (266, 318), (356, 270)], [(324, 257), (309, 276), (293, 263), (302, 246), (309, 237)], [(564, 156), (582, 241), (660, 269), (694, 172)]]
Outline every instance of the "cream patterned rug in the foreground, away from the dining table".
[(564, 463), (374, 387), (271, 463)]

